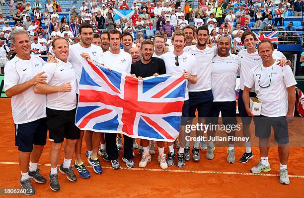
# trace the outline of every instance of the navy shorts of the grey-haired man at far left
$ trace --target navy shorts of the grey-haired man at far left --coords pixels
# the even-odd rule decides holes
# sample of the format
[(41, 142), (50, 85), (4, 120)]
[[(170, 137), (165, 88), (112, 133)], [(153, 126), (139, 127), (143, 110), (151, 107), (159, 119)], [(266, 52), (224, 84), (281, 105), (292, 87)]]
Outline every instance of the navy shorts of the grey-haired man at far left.
[(33, 144), (38, 146), (46, 144), (47, 133), (45, 117), (32, 122), (15, 124), (15, 146), (19, 151), (32, 152)]

